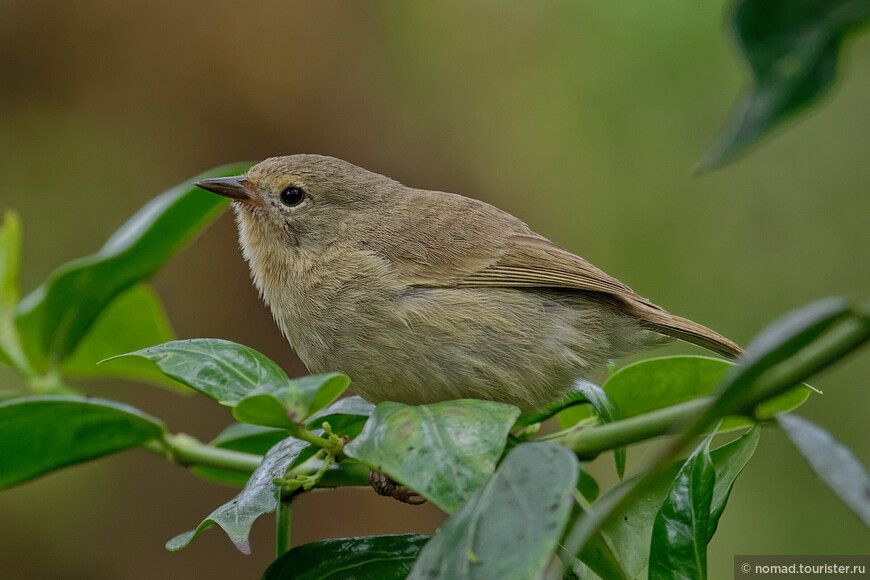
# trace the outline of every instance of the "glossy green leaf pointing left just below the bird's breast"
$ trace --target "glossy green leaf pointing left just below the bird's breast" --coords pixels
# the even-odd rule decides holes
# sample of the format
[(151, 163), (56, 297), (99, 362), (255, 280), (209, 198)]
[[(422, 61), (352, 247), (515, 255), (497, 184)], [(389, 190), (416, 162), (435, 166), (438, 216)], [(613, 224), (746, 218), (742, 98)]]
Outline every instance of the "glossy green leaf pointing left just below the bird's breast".
[(278, 392), (290, 382), (266, 356), (217, 338), (176, 340), (109, 360), (125, 357), (149, 360), (166, 376), (229, 407), (258, 390)]

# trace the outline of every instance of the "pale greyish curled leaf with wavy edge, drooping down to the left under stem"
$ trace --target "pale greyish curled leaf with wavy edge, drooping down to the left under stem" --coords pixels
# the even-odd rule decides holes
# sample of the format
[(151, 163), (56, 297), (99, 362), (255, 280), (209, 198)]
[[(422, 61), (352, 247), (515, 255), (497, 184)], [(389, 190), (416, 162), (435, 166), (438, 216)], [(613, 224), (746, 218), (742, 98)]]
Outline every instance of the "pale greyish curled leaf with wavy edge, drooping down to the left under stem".
[(254, 521), (263, 514), (275, 511), (278, 507), (280, 489), (272, 480), (284, 477), (302, 451), (309, 446), (305, 441), (288, 437), (279, 441), (266, 453), (260, 467), (248, 479), (241, 493), (220, 506), (195, 530), (175, 536), (166, 543), (166, 549), (180, 550), (187, 546), (201, 531), (217, 524), (227, 533), (230, 540), (244, 554), (251, 553), (248, 535)]

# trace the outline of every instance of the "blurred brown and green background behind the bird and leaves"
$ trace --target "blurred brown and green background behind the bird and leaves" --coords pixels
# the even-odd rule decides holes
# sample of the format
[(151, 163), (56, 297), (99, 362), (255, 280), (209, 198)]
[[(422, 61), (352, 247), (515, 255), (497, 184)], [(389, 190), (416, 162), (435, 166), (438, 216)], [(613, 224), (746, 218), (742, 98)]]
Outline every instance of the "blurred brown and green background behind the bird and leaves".
[[(155, 194), (230, 161), (316, 152), (521, 216), (666, 308), (746, 342), (814, 299), (870, 289), (870, 36), (823, 106), (734, 165), (692, 168), (745, 71), (723, 2), (125, 3), (0, 0), (0, 206), (23, 216), (23, 284), (95, 251)], [(252, 288), (228, 215), (154, 280), (179, 337), (250, 345), (304, 372)], [(692, 347), (665, 352), (698, 353)], [(5, 380), (14, 377), (2, 375)], [(870, 351), (801, 410), (870, 462)], [(80, 385), (209, 439), (204, 397)], [(637, 459), (639, 451), (630, 452)], [(602, 481), (612, 459), (596, 462)], [(142, 451), (0, 494), (3, 578), (255, 578), (218, 530), (169, 553), (235, 490)], [(294, 542), (431, 532), (431, 505), (308, 494)], [(867, 553), (870, 533), (767, 429), (710, 546)]]

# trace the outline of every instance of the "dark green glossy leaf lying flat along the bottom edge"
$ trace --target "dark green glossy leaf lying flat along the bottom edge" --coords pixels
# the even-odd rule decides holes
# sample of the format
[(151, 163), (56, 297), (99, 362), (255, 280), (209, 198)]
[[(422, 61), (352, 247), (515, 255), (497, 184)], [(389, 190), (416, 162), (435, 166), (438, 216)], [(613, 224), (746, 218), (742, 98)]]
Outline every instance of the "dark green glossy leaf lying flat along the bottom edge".
[(303, 544), (272, 562), (262, 580), (404, 580), (430, 538), (401, 534)]

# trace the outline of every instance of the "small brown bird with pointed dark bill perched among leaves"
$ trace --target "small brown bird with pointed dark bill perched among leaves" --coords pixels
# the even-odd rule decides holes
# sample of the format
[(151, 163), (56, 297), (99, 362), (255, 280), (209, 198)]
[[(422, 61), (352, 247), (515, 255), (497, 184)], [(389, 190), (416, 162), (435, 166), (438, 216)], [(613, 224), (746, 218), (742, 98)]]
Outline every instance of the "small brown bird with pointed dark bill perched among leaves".
[(656, 333), (742, 352), (481, 201), (319, 155), (197, 185), (235, 201), (254, 284), (308, 369), (374, 403), (535, 409)]

